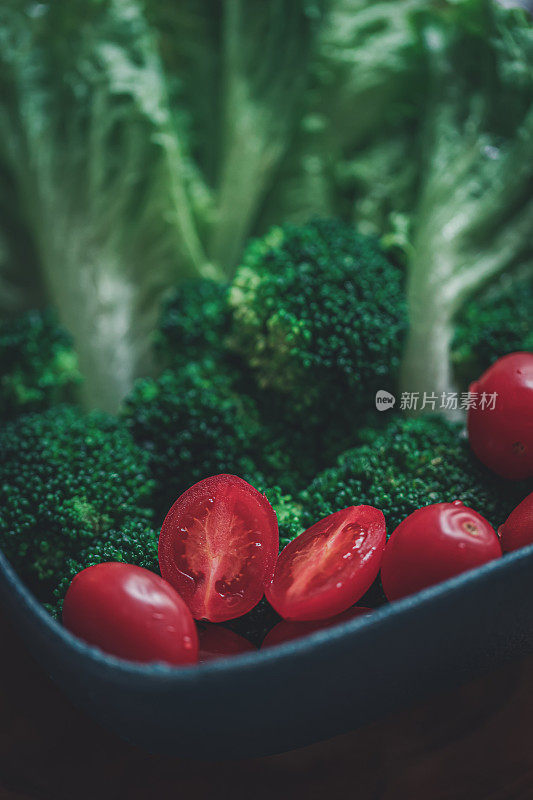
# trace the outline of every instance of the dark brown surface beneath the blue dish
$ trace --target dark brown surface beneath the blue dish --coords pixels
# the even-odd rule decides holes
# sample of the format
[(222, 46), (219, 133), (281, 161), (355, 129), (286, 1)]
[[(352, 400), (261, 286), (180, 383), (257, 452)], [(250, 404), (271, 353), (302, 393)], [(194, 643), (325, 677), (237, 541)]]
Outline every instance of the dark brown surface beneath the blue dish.
[(1, 616), (0, 641), (1, 800), (533, 798), (533, 657), (352, 734), (220, 763), (131, 747), (62, 696)]

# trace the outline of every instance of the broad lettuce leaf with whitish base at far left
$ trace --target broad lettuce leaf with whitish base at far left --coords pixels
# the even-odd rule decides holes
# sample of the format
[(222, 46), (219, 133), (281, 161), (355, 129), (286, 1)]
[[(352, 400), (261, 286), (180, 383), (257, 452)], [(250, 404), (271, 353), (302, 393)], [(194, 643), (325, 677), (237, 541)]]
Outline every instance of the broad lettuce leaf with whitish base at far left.
[(205, 264), (154, 34), (133, 0), (8, 0), (0, 54), (0, 161), (87, 400), (114, 409), (162, 291)]

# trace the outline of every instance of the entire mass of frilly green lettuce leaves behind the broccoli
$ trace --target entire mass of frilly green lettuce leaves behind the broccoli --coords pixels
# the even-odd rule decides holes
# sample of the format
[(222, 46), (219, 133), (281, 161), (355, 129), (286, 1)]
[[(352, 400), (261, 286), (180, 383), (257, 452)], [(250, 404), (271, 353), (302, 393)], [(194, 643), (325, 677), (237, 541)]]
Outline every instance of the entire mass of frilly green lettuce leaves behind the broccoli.
[(150, 373), (166, 290), (230, 279), (272, 223), (338, 216), (401, 255), (407, 391), (453, 387), (465, 302), (531, 262), (520, 9), (7, 0), (0, 54), (2, 307), (51, 298), (89, 404)]

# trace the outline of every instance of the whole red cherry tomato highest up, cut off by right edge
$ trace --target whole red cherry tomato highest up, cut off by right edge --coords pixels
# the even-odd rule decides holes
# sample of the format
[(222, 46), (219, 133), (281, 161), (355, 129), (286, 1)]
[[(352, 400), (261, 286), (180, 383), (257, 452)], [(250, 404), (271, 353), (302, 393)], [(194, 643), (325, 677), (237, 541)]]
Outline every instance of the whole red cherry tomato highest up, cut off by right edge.
[[(533, 476), (533, 353), (498, 359), (470, 391), (477, 395), (468, 411), (468, 438), (476, 456), (502, 478)], [(494, 409), (487, 404), (493, 395)]]

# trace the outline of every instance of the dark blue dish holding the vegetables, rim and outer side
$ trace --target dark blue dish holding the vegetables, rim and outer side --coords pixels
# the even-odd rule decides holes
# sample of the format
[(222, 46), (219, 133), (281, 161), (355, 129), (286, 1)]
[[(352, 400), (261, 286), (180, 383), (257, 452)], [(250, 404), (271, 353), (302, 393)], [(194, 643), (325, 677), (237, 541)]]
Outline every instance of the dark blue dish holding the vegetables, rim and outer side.
[(1, 552), (0, 602), (74, 703), (125, 739), (181, 756), (257, 756), (353, 730), (533, 652), (533, 546), (305, 639), (180, 669), (79, 641)]

